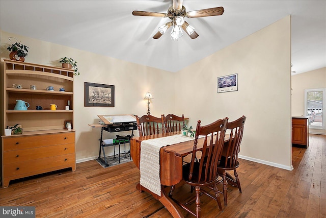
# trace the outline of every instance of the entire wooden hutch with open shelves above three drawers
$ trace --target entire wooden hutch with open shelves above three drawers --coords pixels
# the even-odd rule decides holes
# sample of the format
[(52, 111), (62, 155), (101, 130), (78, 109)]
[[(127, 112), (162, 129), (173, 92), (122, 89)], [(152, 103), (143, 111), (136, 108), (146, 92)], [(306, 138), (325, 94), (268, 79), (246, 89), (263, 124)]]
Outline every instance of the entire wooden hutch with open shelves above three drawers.
[[(3, 69), (3, 187), (8, 186), (10, 180), (25, 176), (67, 167), (75, 171), (75, 131), (64, 127), (65, 121), (69, 120), (73, 128), (74, 70), (6, 59)], [(13, 84), (21, 84), (22, 88), (14, 88)], [(32, 85), (36, 90), (30, 89)], [(46, 90), (48, 86), (55, 90)], [(60, 88), (65, 91), (59, 91)], [(16, 100), (28, 102), (30, 107), (28, 110), (14, 110)], [(56, 104), (57, 110), (50, 110), (50, 104)], [(67, 105), (70, 105), (70, 110), (65, 110)], [(36, 106), (41, 106), (42, 110), (36, 110)], [(22, 126), (22, 135), (4, 136), (4, 129), (16, 124)], [(58, 141), (61, 136), (70, 141)], [(19, 146), (8, 150), (12, 140)]]

